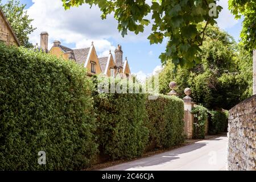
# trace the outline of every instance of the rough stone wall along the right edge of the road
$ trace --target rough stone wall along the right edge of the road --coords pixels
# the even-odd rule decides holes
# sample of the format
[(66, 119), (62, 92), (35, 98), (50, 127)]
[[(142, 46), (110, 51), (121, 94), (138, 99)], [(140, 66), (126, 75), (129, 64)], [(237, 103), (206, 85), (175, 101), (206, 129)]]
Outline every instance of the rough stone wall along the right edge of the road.
[(228, 169), (256, 171), (256, 95), (229, 110)]

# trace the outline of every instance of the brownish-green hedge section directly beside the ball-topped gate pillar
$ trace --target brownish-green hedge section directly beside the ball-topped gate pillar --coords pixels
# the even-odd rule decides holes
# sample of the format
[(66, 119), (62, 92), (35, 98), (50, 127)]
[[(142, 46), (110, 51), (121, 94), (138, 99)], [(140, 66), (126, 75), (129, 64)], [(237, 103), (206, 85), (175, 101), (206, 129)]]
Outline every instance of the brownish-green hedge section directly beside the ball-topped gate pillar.
[(160, 95), (156, 100), (147, 100), (148, 148), (168, 148), (184, 140), (184, 103), (173, 96)]

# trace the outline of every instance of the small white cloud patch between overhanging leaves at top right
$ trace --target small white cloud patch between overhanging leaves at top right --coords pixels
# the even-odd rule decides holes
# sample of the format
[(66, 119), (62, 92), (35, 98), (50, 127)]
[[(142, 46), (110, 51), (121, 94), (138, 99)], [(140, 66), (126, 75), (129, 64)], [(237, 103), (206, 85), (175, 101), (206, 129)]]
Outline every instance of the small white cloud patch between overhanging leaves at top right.
[(223, 8), (217, 19), (220, 28), (231, 28), (238, 23), (238, 20), (234, 19), (234, 15), (232, 15), (228, 9), (228, 0), (217, 1), (217, 5)]

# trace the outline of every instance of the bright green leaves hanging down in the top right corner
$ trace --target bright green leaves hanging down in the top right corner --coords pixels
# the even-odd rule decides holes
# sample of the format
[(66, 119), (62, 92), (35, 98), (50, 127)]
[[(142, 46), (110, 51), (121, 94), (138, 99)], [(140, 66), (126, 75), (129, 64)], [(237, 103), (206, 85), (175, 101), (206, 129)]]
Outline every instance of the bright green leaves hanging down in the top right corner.
[(242, 46), (252, 52), (256, 48), (256, 1), (229, 0), (229, 10), (239, 19), (243, 16), (243, 27), (240, 34)]

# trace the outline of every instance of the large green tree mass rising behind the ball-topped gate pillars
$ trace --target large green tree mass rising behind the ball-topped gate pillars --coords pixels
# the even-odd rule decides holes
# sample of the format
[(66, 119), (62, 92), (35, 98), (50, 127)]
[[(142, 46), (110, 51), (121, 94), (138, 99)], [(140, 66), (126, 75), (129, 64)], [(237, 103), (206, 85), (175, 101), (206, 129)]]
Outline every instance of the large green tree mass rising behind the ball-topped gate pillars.
[(252, 90), (252, 58), (218, 27), (209, 26), (201, 48), (202, 63), (181, 68), (167, 63), (159, 73), (159, 91), (170, 92), (168, 84), (177, 82), (176, 92), (184, 97), (184, 89), (192, 90), (192, 98), (208, 109), (230, 109), (248, 97)]

